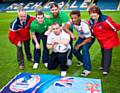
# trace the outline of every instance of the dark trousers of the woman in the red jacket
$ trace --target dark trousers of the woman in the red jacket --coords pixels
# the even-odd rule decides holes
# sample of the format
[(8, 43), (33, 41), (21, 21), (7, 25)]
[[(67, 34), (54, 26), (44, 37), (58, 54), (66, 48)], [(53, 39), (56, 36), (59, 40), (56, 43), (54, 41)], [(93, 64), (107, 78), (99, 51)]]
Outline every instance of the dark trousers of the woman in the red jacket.
[(101, 52), (102, 52), (101, 67), (103, 67), (103, 71), (109, 72), (112, 61), (112, 48), (111, 49), (101, 48)]

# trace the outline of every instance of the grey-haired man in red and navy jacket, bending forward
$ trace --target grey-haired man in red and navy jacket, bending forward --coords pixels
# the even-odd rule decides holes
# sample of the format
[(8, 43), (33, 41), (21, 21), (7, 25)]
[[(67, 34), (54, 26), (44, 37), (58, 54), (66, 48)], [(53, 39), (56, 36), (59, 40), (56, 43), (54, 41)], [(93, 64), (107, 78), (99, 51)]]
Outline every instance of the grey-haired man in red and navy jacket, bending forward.
[(9, 40), (17, 47), (17, 60), (19, 69), (24, 69), (24, 55), (22, 45), (24, 44), (27, 60), (32, 62), (30, 53), (30, 23), (34, 20), (33, 17), (26, 14), (24, 9), (18, 11), (18, 17), (11, 23), (9, 29)]

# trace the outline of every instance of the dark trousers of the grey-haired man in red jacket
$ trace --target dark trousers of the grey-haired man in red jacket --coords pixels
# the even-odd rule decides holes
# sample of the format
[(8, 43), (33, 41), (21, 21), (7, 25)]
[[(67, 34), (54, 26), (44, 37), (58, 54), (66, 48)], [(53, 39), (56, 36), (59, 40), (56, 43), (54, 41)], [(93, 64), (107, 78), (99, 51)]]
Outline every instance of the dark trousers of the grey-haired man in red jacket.
[[(32, 55), (30, 52), (30, 40), (24, 41), (23, 44), (24, 44), (24, 50), (27, 60), (31, 61)], [(23, 54), (22, 46), (21, 47), (17, 46), (17, 61), (18, 61), (18, 65), (24, 66), (24, 54)]]

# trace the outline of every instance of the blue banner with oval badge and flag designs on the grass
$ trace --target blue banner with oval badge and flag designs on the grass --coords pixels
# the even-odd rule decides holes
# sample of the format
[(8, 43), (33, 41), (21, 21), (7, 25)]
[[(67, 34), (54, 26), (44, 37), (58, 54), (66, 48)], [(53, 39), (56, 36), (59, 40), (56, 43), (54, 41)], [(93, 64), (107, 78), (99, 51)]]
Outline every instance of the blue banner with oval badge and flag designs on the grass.
[(100, 79), (21, 73), (0, 93), (102, 93), (102, 90)]

